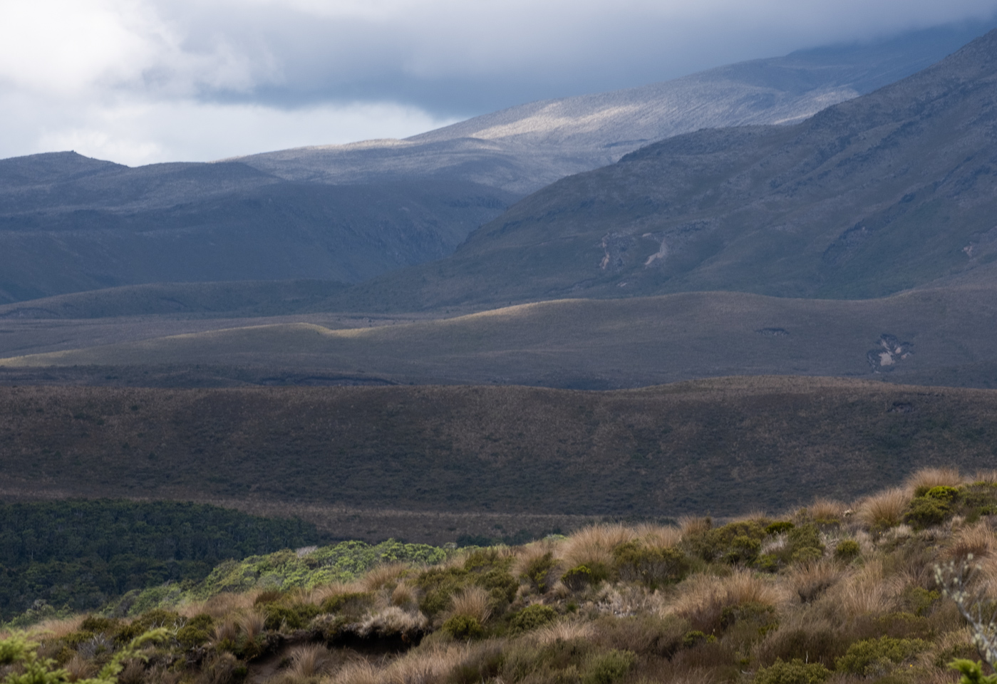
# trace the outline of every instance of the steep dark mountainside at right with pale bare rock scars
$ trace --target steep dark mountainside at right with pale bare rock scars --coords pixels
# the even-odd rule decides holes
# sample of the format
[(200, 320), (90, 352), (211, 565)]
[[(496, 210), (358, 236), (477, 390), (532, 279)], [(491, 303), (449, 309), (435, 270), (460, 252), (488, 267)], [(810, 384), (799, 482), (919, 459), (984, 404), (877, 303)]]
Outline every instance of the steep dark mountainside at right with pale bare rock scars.
[(740, 290), (870, 297), (997, 259), (997, 32), (794, 126), (704, 130), (559, 180), (370, 308)]

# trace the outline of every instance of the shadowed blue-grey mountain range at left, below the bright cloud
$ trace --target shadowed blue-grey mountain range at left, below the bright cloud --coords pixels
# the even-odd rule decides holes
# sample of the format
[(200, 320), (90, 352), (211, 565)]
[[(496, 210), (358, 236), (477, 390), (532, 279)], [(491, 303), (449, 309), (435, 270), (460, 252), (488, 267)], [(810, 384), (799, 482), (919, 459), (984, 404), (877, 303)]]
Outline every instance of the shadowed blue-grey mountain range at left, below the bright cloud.
[(3, 160), (0, 301), (151, 282), (356, 282), (451, 253), (511, 199), (467, 181), (336, 186), (238, 163)]

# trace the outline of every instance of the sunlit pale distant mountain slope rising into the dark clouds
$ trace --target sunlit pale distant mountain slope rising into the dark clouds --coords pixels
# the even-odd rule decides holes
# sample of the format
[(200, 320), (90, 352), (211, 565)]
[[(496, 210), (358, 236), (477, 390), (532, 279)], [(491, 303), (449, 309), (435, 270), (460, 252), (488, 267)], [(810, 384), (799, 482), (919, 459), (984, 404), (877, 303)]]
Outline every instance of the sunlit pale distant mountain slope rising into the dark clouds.
[(343, 182), (420, 173), (524, 194), (671, 136), (810, 117), (909, 76), (992, 26), (993, 21), (939, 26), (640, 88), (520, 105), (404, 141), (285, 150), (240, 161), (292, 179)]

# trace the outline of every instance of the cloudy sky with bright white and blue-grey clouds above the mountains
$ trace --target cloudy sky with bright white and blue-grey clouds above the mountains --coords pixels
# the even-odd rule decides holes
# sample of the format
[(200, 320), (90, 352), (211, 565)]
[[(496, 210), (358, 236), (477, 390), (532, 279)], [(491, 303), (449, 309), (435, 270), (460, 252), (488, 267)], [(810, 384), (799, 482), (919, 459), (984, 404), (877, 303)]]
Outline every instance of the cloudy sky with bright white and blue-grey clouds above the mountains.
[(985, 19), (997, 0), (0, 0), (0, 158), (137, 166), (478, 114)]

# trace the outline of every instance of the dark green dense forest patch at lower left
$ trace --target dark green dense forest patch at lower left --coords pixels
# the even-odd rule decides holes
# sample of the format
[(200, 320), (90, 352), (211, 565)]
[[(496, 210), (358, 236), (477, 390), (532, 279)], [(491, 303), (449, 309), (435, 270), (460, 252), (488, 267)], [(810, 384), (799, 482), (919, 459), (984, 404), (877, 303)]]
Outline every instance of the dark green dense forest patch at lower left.
[(314, 524), (215, 506), (127, 501), (0, 504), (0, 621), (42, 601), (98, 608), (134, 589), (199, 581), (229, 558), (328, 541)]

